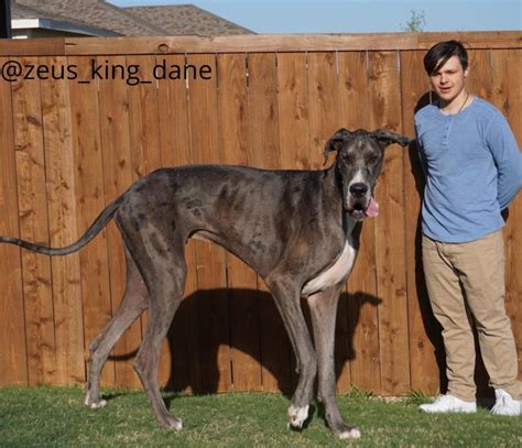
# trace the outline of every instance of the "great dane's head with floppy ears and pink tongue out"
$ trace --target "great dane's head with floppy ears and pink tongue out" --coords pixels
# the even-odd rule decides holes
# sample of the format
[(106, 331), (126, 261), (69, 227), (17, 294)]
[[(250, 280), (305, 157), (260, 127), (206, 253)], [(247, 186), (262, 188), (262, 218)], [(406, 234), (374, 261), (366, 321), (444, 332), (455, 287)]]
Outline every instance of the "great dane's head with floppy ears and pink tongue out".
[(383, 129), (373, 132), (339, 129), (326, 143), (326, 159), (337, 151), (335, 171), (342, 185), (342, 207), (355, 220), (379, 212), (373, 188), (381, 173), (384, 149), (392, 143), (405, 146), (410, 139)]

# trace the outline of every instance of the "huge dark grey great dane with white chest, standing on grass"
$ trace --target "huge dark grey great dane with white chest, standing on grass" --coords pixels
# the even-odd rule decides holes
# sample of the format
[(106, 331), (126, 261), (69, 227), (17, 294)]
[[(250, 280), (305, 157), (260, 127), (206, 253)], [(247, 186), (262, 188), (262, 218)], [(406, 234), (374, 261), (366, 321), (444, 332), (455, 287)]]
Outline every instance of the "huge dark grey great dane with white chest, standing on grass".
[[(327, 142), (319, 171), (265, 171), (224, 165), (161, 168), (135, 182), (110, 204), (87, 232), (67, 248), (47, 248), (17, 238), (0, 242), (47, 255), (86, 245), (115, 219), (124, 242), (127, 291), (104, 331), (90, 345), (85, 404), (100, 407), (100, 372), (110, 350), (145, 309), (150, 324), (134, 369), (162, 427), (182, 428), (160, 394), (160, 348), (184, 293), (184, 247), (189, 238), (211, 241), (236, 254), (265, 282), (297, 358), (300, 380), (289, 408), (290, 425), (302, 428), (318, 374), (318, 398), (340, 438), (359, 437), (342, 420), (335, 397), (334, 336), (339, 293), (351, 271), (356, 223), (377, 216), (373, 187), (384, 149), (405, 146), (406, 136), (377, 130), (338, 130)], [(307, 296), (314, 343), (300, 296)], [(315, 348), (314, 348), (315, 346)]]

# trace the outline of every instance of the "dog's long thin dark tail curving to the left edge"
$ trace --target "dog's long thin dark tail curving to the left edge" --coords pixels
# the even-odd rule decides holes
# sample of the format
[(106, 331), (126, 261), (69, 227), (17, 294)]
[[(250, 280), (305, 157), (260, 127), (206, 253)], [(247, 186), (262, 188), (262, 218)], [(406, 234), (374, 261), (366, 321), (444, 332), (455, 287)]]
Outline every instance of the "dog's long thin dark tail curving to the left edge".
[(87, 231), (79, 238), (79, 240), (70, 245), (67, 245), (66, 248), (48, 248), (46, 245), (34, 244), (32, 242), (11, 237), (0, 237), (0, 242), (20, 245), (21, 248), (28, 249), (30, 251), (51, 256), (67, 255), (80, 250), (107, 226), (107, 223), (115, 217), (115, 214), (120, 207), (122, 199), (123, 196), (120, 196), (118, 199), (107, 206), (106, 209), (98, 215)]

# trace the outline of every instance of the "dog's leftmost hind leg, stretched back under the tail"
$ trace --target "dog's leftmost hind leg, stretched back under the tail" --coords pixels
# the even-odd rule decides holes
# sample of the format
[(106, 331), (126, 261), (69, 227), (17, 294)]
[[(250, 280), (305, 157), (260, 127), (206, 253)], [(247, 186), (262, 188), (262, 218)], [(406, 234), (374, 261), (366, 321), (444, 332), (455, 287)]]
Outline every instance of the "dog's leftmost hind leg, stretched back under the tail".
[(149, 306), (149, 295), (138, 266), (126, 249), (127, 286), (123, 299), (115, 316), (109, 320), (104, 331), (90, 343), (88, 362), (87, 390), (85, 405), (93, 408), (106, 404), (100, 398), (100, 374), (107, 358), (120, 339), (121, 335)]

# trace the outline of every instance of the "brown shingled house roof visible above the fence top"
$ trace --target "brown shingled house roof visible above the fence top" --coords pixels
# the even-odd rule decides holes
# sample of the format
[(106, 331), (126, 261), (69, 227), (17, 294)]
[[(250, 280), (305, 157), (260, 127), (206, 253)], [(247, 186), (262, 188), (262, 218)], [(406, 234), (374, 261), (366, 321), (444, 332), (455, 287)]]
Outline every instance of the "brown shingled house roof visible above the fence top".
[(119, 8), (104, 0), (11, 0), (13, 20), (69, 23), (94, 35), (224, 35), (252, 31), (193, 4)]

